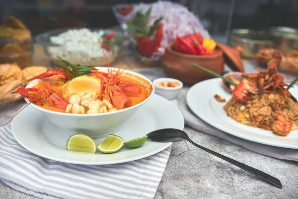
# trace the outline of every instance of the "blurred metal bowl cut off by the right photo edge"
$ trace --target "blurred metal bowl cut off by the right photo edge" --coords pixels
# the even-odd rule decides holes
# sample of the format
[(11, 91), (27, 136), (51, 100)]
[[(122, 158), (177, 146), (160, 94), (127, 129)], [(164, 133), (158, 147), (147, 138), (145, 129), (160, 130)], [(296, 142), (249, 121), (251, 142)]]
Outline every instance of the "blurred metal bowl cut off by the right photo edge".
[(290, 27), (272, 27), (270, 34), (278, 38), (277, 49), (287, 54), (291, 50), (298, 50), (298, 29)]

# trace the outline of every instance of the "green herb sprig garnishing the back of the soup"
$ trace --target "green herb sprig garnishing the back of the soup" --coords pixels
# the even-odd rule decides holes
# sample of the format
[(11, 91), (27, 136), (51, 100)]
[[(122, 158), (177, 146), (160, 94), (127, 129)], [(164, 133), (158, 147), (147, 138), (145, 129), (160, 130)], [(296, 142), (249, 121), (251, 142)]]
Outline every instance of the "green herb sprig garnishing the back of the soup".
[[(58, 56), (57, 56), (58, 57)], [(94, 73), (91, 70), (94, 70), (93, 66), (86, 66), (86, 65), (79, 65), (79, 64), (71, 64), (70, 62), (61, 59), (58, 57), (59, 60), (54, 59), (56, 62), (59, 63), (57, 67), (67, 73), (70, 74), (72, 78), (76, 78), (78, 76), (88, 75), (90, 73)]]

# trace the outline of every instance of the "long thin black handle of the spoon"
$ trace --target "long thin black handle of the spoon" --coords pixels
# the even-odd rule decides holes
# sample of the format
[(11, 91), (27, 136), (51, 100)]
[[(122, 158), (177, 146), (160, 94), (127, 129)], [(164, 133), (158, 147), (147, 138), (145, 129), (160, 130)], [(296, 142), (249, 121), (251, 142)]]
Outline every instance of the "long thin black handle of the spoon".
[(192, 143), (196, 147), (199, 147), (200, 149), (202, 149), (204, 151), (207, 151), (208, 153), (211, 153), (211, 154), (213, 154), (213, 155), (215, 155), (215, 156), (217, 156), (217, 157), (219, 157), (219, 158), (221, 158), (221, 159), (223, 159), (223, 160), (225, 160), (225, 161), (227, 161), (227, 162), (229, 162), (229, 163), (231, 163), (231, 164), (233, 164), (233, 165), (235, 165), (235, 166), (237, 166), (237, 167), (239, 167), (241, 169), (244, 169), (245, 171), (248, 171), (251, 174), (254, 174), (254, 175), (256, 175), (256, 176), (258, 176), (258, 177), (260, 177), (260, 178), (268, 181), (269, 183), (277, 186), (278, 188), (281, 188), (281, 189), (283, 188), (283, 186), (281, 184), (281, 181), (278, 180), (277, 178), (274, 178), (273, 176), (270, 176), (269, 174), (266, 174), (266, 173), (264, 173), (264, 172), (262, 172), (260, 170), (257, 170), (255, 168), (252, 168), (252, 167), (250, 167), (248, 165), (245, 165), (245, 164), (243, 164), (241, 162), (238, 162), (238, 161), (233, 160), (231, 158), (228, 158), (228, 157), (226, 157), (226, 156), (224, 156), (222, 154), (219, 154), (219, 153), (217, 153), (215, 151), (212, 151), (212, 150), (207, 149), (207, 148), (205, 148), (203, 146), (200, 146), (200, 145), (198, 145), (197, 143), (193, 142), (190, 139), (188, 139), (187, 141), (189, 141), (190, 143)]

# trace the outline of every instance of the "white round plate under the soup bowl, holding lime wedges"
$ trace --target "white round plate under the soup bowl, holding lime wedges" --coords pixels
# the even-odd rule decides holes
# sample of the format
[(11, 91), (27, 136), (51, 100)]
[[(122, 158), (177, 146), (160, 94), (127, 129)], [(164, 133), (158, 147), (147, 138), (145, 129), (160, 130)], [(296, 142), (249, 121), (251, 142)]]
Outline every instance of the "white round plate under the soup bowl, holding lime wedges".
[[(95, 154), (68, 151), (66, 143), (69, 135), (61, 132), (62, 129), (46, 120), (40, 111), (31, 106), (15, 116), (11, 128), (15, 140), (28, 151), (44, 158), (73, 164), (105, 165), (130, 162), (154, 155), (172, 144), (148, 139), (139, 148), (123, 146), (113, 154), (104, 154), (98, 150)], [(172, 102), (154, 95), (114, 134), (128, 141), (161, 128), (183, 130), (184, 118)], [(94, 140), (98, 146), (104, 139)]]

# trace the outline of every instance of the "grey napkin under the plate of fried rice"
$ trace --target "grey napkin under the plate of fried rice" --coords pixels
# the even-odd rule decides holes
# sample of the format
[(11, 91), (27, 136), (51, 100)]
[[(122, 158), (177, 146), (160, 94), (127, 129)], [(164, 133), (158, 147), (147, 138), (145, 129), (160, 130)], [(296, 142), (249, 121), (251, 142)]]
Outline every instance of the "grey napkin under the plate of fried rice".
[(185, 124), (196, 130), (207, 133), (209, 135), (219, 137), (225, 141), (242, 146), (256, 153), (260, 153), (260, 154), (271, 156), (278, 159), (293, 160), (298, 162), (297, 149), (287, 149), (287, 148), (269, 146), (265, 144), (259, 144), (256, 142), (244, 140), (242, 138), (230, 135), (228, 133), (225, 133), (224, 131), (221, 131), (209, 125), (201, 118), (196, 116), (187, 105), (180, 104), (178, 107), (184, 116)]

